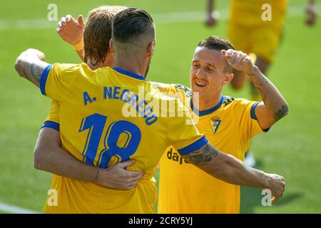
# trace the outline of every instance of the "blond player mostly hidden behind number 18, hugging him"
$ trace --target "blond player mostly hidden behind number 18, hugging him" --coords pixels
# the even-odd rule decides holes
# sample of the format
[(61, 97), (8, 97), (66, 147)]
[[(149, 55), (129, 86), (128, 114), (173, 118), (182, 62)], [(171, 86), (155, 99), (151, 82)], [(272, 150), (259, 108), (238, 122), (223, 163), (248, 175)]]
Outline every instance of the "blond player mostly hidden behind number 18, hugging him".
[[(88, 14), (86, 29), (83, 16), (78, 16), (76, 21), (67, 15), (59, 21), (58, 34), (64, 41), (74, 46), (82, 61), (86, 58), (97, 67), (113, 67), (113, 56), (109, 51), (108, 41), (111, 39), (113, 17), (123, 9), (127, 7), (99, 6), (92, 9)], [(86, 40), (86, 46), (83, 39)], [(59, 115), (60, 105), (58, 101), (53, 100), (35, 148), (34, 167), (36, 169), (118, 190), (129, 190), (136, 186), (143, 171), (125, 169), (126, 166), (132, 165), (134, 160), (119, 162), (105, 170), (86, 165), (63, 150), (59, 136)]]

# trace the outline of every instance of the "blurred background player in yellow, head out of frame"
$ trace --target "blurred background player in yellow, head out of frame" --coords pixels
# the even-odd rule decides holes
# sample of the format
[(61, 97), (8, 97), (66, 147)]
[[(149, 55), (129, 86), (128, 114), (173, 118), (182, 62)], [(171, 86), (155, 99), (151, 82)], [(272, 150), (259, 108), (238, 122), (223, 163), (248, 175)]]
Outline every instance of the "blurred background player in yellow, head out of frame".
[[(243, 51), (258, 66), (260, 71), (267, 75), (267, 70), (274, 61), (274, 56), (282, 38), (282, 28), (287, 10), (287, 0), (231, 0), (228, 18), (228, 39), (237, 50)], [(270, 5), (266, 6), (266, 4)], [(218, 22), (218, 13), (213, 11), (215, 0), (208, 0), (208, 10), (205, 23), (215, 26)], [(270, 10), (270, 12), (269, 12)], [(309, 0), (305, 23), (315, 24), (315, 1)], [(270, 19), (266, 14), (270, 14)], [(231, 85), (235, 89), (243, 88), (245, 74), (234, 72)], [(250, 100), (262, 100), (260, 93), (250, 82)], [(252, 153), (248, 152), (245, 164), (255, 166), (256, 161)]]

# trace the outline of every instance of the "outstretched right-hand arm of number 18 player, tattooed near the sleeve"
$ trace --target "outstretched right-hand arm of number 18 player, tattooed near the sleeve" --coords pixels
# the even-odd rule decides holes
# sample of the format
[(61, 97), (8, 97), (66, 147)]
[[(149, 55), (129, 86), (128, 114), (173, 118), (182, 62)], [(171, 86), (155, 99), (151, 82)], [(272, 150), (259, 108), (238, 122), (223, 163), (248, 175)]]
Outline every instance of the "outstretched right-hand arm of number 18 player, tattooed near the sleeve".
[(270, 189), (277, 198), (282, 197), (285, 190), (284, 177), (248, 167), (232, 155), (215, 149), (210, 143), (183, 155), (183, 158), (213, 177), (233, 185)]

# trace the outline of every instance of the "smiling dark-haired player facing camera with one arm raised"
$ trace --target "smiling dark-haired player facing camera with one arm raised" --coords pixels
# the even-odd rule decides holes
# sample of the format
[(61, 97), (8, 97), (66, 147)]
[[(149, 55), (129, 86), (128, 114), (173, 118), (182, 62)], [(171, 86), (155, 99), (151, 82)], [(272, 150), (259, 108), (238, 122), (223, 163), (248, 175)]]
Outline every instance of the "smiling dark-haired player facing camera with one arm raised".
[[(190, 68), (190, 88), (158, 83), (190, 107), (200, 133), (229, 155), (244, 160), (250, 139), (287, 114), (287, 103), (250, 58), (216, 36), (201, 41)], [(236, 53), (236, 55), (235, 55)], [(233, 58), (233, 56), (235, 56)], [(227, 61), (226, 61), (226, 60)], [(238, 64), (241, 63), (240, 67)], [(250, 67), (245, 67), (250, 66)], [(222, 95), (233, 79), (232, 68), (248, 73), (263, 102)], [(192, 91), (200, 93), (195, 108)], [(240, 187), (215, 179), (188, 164), (173, 147), (161, 158), (158, 213), (239, 213)]]

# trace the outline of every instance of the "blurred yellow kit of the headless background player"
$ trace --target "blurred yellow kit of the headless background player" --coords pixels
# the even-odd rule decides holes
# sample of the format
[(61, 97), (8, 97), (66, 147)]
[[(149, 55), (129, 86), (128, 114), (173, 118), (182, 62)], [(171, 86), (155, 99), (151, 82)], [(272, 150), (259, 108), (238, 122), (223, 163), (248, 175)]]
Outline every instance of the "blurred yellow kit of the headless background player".
[(287, 0), (232, 0), (229, 40), (236, 49), (272, 62), (282, 36), (286, 9)]

